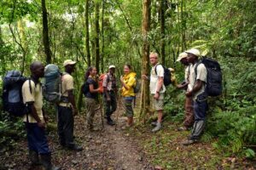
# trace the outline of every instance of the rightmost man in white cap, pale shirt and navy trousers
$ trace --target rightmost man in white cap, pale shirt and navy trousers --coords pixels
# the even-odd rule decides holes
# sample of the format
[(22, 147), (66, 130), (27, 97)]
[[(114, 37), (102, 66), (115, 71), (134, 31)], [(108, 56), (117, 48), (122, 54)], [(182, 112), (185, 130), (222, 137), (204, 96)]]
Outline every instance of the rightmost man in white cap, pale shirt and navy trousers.
[(186, 51), (188, 54), (189, 65), (189, 86), (186, 93), (187, 97), (192, 97), (194, 105), (195, 123), (192, 133), (184, 145), (195, 144), (201, 138), (207, 116), (207, 94), (205, 87), (207, 83), (207, 68), (203, 64), (198, 64), (200, 52), (192, 48)]

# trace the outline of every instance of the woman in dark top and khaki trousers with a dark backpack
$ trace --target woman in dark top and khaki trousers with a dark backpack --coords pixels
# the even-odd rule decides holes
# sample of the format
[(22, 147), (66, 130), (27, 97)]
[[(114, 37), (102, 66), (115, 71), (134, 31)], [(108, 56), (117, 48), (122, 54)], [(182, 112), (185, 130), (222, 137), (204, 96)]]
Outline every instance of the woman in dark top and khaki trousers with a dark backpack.
[(93, 118), (96, 113), (96, 104), (98, 93), (100, 88), (98, 88), (98, 82), (96, 81), (96, 67), (90, 66), (85, 72), (85, 82), (83, 85), (83, 94), (85, 96), (86, 105), (86, 122), (87, 127), (90, 131), (93, 131)]

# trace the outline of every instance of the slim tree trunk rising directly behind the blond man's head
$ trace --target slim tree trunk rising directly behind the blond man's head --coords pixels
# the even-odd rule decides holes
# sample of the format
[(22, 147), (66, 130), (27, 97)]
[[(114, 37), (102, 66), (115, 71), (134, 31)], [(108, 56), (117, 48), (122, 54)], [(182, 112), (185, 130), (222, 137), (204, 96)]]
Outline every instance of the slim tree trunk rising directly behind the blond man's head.
[(160, 0), (160, 31), (161, 31), (161, 42), (160, 42), (160, 52), (161, 52), (161, 64), (166, 64), (166, 26), (165, 26), (165, 11), (166, 11), (166, 0)]

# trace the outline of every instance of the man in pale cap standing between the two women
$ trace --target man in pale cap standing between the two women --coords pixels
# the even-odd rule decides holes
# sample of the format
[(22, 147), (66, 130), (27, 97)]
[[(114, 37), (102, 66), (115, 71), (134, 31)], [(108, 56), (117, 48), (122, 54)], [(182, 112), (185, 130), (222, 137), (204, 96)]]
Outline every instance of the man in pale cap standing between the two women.
[(107, 116), (107, 123), (108, 125), (115, 125), (115, 122), (111, 119), (111, 115), (114, 111), (116, 111), (117, 108), (117, 82), (116, 77), (114, 75), (115, 72), (115, 66), (109, 65), (108, 67), (108, 73), (105, 74), (102, 82), (103, 87), (103, 100), (104, 100), (104, 109), (105, 114)]

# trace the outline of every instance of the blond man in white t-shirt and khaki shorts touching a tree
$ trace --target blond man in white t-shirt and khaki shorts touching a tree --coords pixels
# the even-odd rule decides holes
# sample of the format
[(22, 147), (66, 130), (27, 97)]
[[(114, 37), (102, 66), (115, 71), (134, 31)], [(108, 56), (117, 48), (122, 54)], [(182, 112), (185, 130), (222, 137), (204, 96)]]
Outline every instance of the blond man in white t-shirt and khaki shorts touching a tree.
[(143, 75), (143, 79), (150, 80), (150, 94), (153, 95), (154, 110), (158, 112), (158, 119), (157, 122), (153, 122), (155, 127), (152, 129), (152, 132), (157, 132), (161, 128), (164, 110), (164, 94), (166, 92), (166, 87), (164, 85), (165, 71), (163, 66), (158, 63), (158, 54), (149, 54), (149, 60), (151, 65), (153, 65), (150, 72), (150, 78), (148, 78), (146, 75)]

